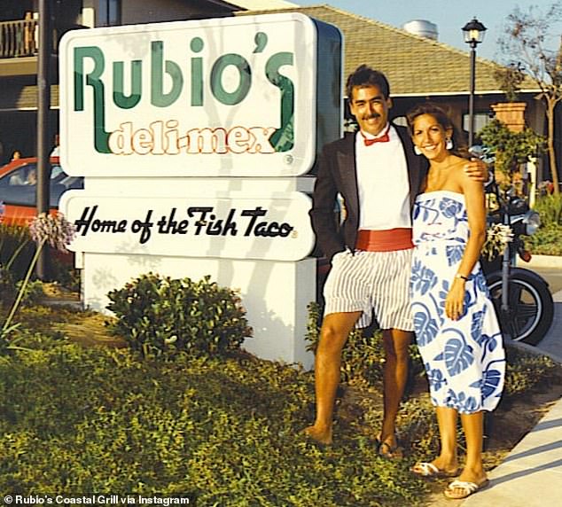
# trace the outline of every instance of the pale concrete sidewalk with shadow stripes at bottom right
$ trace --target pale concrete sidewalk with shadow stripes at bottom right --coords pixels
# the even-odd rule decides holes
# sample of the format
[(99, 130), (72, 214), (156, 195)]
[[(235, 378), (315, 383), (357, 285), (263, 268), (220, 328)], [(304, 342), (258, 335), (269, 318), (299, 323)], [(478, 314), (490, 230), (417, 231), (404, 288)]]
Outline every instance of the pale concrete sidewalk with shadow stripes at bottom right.
[[(562, 363), (562, 291), (553, 296), (554, 321), (537, 347)], [(462, 507), (554, 507), (562, 505), (562, 399), (488, 474), (490, 484)]]

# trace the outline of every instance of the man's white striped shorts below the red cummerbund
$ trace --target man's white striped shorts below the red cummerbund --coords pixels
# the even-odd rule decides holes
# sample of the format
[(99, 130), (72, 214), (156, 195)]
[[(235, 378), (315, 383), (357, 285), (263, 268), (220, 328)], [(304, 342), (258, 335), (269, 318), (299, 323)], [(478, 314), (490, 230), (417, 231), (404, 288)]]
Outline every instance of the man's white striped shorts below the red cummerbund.
[(413, 249), (396, 252), (356, 250), (336, 253), (324, 285), (324, 316), (361, 311), (357, 328), (371, 324), (374, 313), (380, 329), (413, 331), (410, 271)]

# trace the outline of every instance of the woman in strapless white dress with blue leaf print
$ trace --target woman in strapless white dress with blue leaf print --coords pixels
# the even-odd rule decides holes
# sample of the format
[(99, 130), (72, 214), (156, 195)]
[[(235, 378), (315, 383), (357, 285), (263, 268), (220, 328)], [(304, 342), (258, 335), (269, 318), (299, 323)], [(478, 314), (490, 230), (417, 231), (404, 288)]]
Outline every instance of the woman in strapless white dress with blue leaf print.
[(419, 351), (436, 406), (441, 453), (412, 472), (457, 475), (457, 414), (466, 437), (466, 463), (445, 489), (465, 498), (488, 482), (482, 466), (483, 412), (503, 389), (502, 335), (478, 261), (486, 237), (482, 183), (464, 174), (466, 159), (453, 152), (455, 130), (437, 105), (408, 114), (415, 151), (430, 168), (413, 213), (410, 289)]

